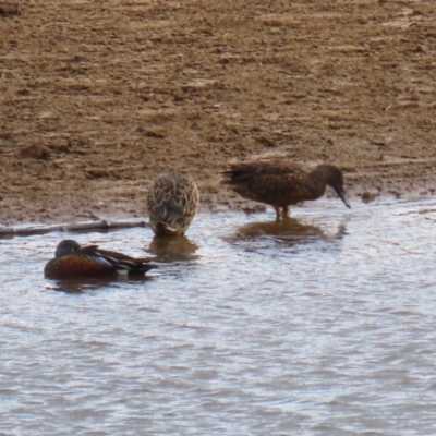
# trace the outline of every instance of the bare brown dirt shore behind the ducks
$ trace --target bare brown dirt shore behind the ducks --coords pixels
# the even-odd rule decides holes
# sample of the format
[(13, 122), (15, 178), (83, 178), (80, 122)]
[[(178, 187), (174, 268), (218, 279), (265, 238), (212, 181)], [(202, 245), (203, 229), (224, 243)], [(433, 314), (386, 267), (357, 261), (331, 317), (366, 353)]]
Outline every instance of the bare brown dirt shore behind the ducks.
[[(0, 225), (202, 207), (232, 160), (337, 164), (351, 199), (436, 187), (436, 1), (28, 0), (0, 15)], [(367, 195), (367, 194), (366, 194)]]

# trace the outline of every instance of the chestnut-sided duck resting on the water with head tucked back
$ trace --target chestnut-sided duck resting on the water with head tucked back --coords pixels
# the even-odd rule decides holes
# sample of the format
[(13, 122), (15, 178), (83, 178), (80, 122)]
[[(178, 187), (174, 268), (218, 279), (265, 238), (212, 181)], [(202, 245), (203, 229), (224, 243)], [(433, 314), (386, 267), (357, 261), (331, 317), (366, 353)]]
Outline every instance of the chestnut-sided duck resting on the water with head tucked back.
[(149, 258), (135, 258), (122, 253), (101, 250), (98, 245), (82, 246), (66, 239), (59, 242), (55, 258), (44, 267), (49, 279), (73, 279), (81, 277), (112, 277), (118, 275), (145, 275), (157, 266)]

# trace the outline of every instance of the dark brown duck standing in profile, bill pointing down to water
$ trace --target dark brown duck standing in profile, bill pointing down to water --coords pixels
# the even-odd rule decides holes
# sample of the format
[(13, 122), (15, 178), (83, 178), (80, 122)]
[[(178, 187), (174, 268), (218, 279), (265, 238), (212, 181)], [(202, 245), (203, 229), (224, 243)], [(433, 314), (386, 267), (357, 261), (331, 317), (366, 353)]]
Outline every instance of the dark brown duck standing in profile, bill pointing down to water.
[(244, 198), (271, 205), (277, 219), (282, 209), (289, 216), (289, 206), (306, 199), (317, 199), (331, 186), (347, 207), (350, 207), (343, 190), (342, 172), (334, 165), (322, 164), (311, 172), (299, 165), (283, 161), (254, 161), (233, 164), (222, 172), (223, 184)]

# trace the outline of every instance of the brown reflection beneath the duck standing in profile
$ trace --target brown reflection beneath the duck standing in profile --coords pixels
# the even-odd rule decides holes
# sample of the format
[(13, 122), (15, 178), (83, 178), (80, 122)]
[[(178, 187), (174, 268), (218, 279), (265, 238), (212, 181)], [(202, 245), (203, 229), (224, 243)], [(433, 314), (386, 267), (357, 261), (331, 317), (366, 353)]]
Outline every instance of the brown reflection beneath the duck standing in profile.
[(240, 226), (230, 238), (230, 242), (269, 239), (277, 243), (294, 245), (319, 240), (338, 240), (346, 234), (344, 222), (338, 226), (335, 233), (325, 232), (318, 226), (305, 225), (295, 218), (276, 221), (257, 221)]

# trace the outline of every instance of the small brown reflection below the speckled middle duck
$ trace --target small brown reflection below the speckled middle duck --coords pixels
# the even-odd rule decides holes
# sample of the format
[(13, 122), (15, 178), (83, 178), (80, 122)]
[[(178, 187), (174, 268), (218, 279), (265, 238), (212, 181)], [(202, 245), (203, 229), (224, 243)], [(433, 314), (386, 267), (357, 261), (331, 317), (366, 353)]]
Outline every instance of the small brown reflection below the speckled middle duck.
[(198, 245), (186, 237), (155, 237), (145, 251), (155, 254), (160, 262), (193, 261)]

